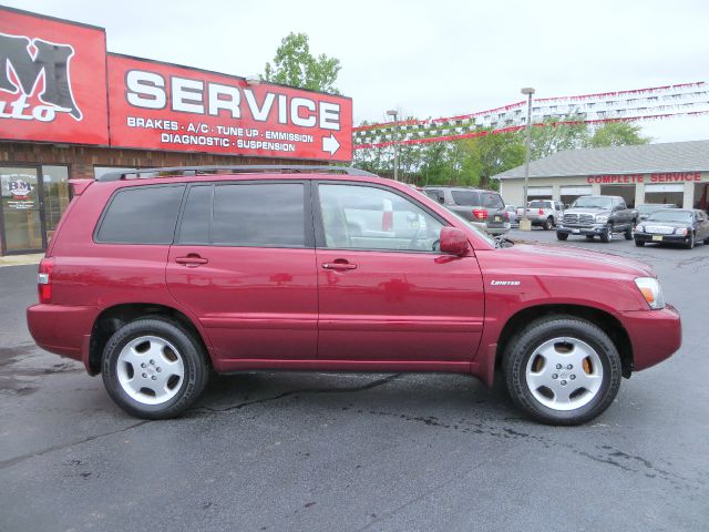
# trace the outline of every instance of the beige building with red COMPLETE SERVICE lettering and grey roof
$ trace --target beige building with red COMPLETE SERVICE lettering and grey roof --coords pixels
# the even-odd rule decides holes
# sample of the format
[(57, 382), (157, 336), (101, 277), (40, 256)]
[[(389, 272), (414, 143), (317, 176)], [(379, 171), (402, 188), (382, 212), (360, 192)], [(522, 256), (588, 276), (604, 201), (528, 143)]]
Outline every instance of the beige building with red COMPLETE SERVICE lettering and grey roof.
[[(524, 202), (524, 166), (493, 176), (505, 203)], [(530, 163), (528, 200), (623, 196), (629, 206), (709, 206), (709, 141), (567, 150)]]

